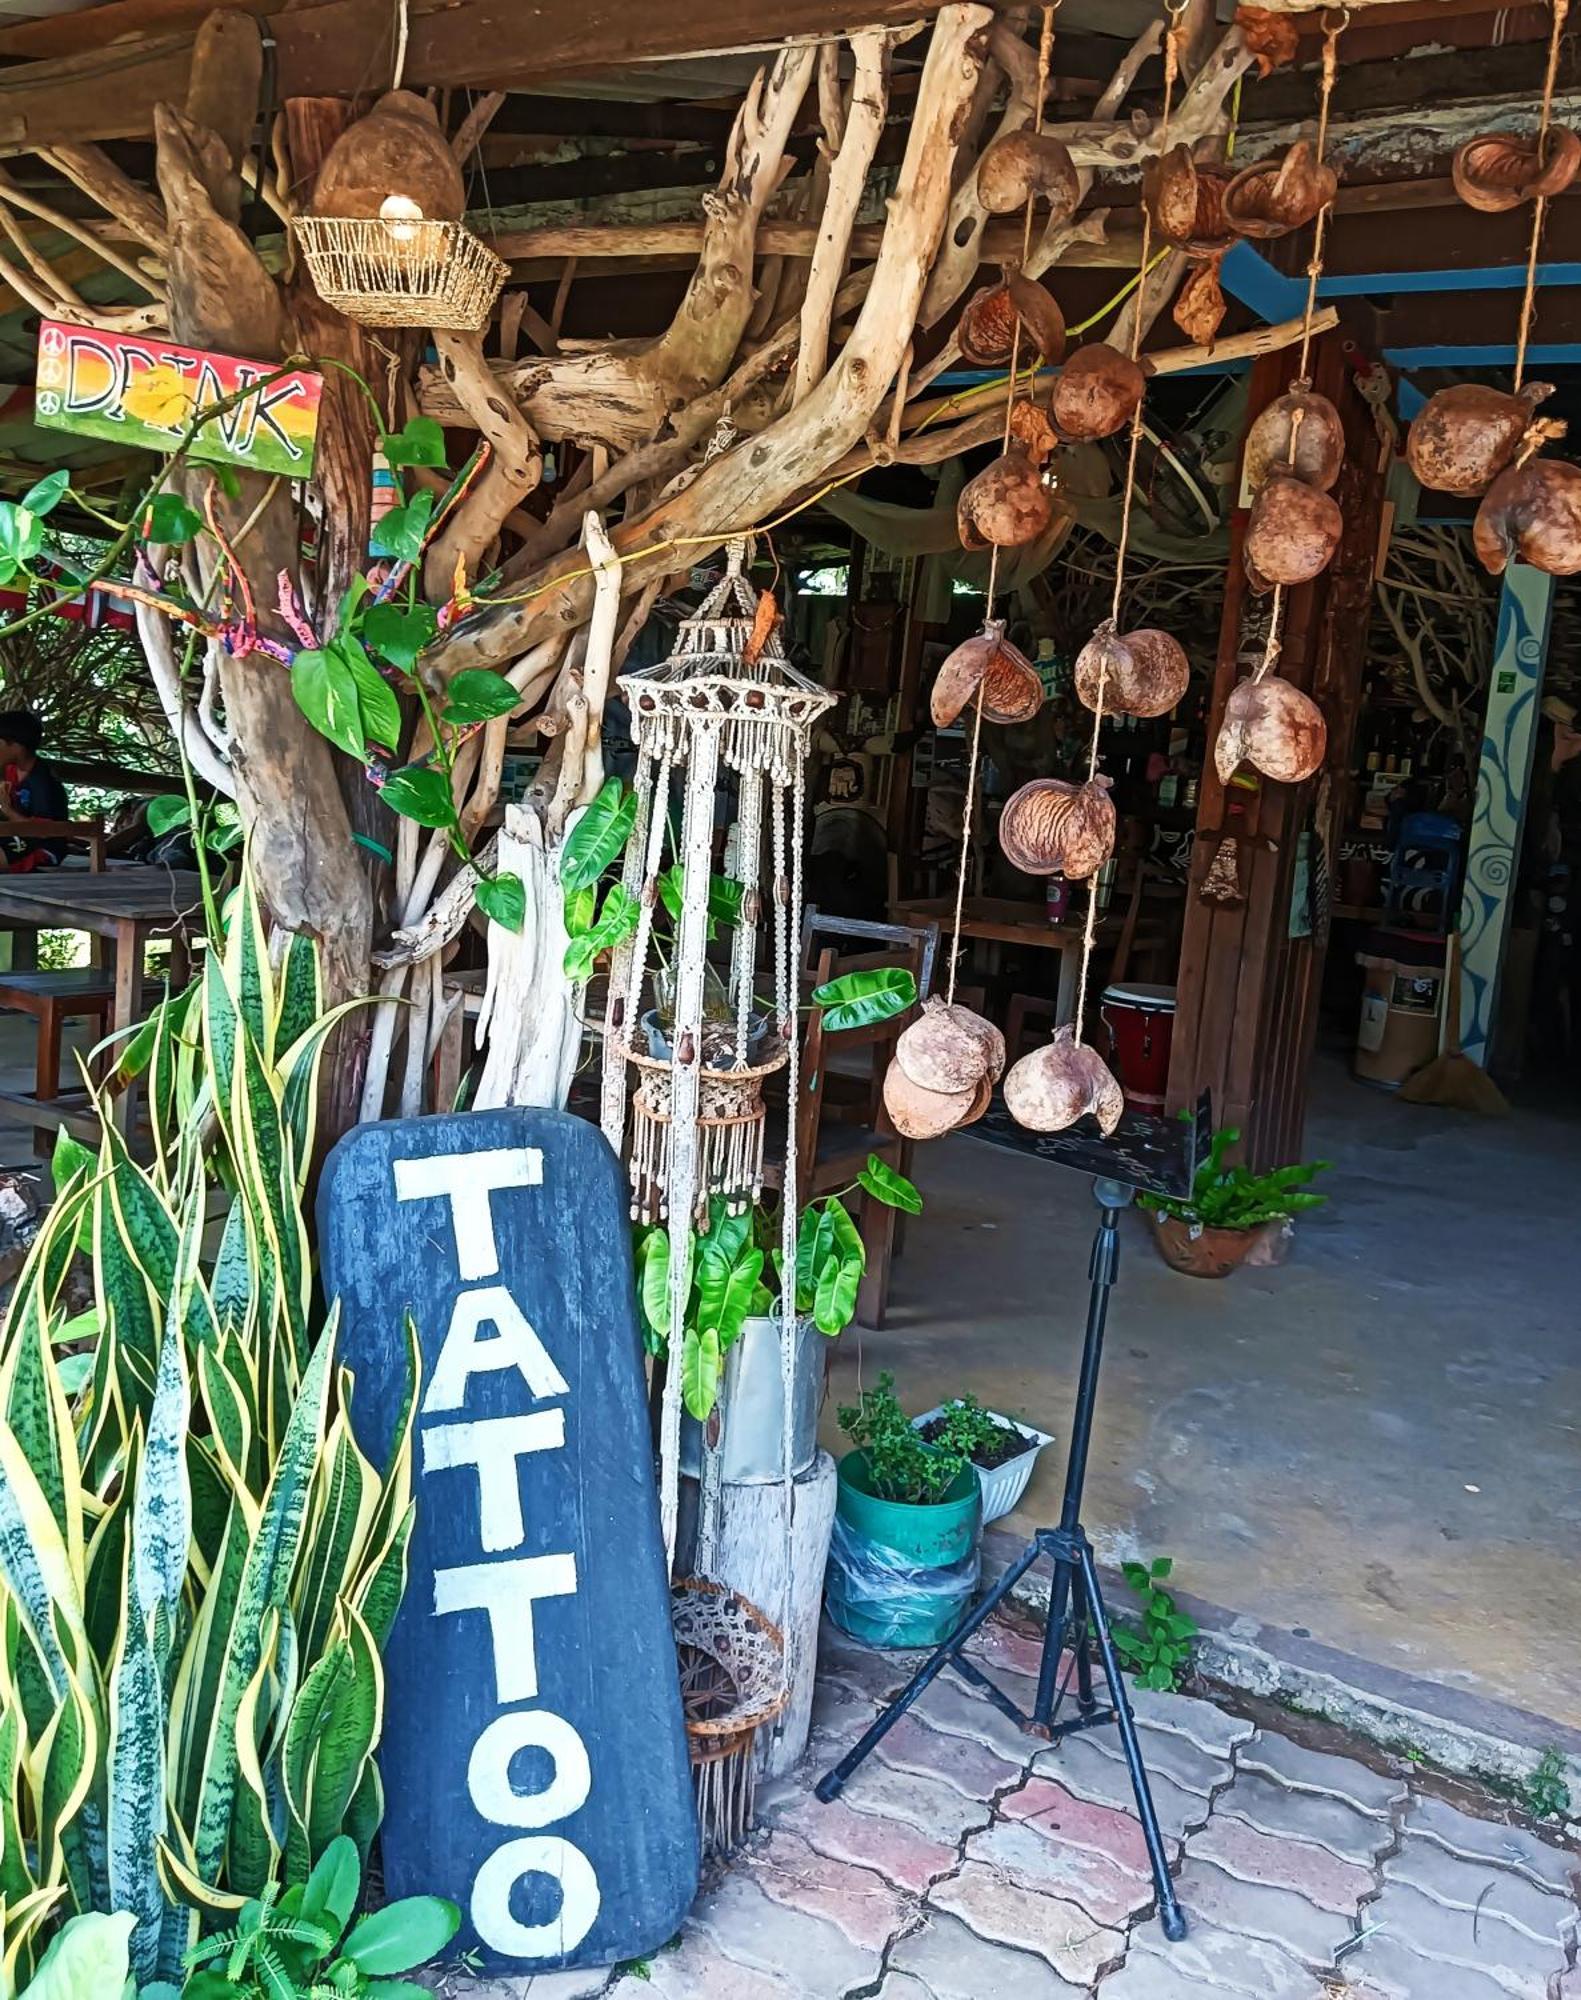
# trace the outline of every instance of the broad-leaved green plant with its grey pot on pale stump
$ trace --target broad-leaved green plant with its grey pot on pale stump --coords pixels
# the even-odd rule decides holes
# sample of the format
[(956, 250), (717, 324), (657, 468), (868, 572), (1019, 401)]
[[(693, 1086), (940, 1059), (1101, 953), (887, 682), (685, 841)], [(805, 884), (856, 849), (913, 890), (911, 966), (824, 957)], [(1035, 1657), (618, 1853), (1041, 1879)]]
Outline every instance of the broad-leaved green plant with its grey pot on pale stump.
[[(843, 1196), (861, 1188), (889, 1208), (921, 1214), (923, 1196), (877, 1154), (835, 1194), (809, 1202), (797, 1228), (797, 1354), (793, 1366), (790, 1474), (819, 1452), (823, 1344), (845, 1332), (857, 1310), (867, 1250)], [(778, 1210), (730, 1214), (720, 1196), (708, 1228), (692, 1236), (692, 1282), (680, 1336), (682, 1470), (696, 1472), (704, 1426), (718, 1408), (720, 1476), (732, 1484), (784, 1478), (784, 1374), (780, 1360)], [(638, 1230), (636, 1296), (650, 1354), (670, 1354), (670, 1240), (666, 1224)]]

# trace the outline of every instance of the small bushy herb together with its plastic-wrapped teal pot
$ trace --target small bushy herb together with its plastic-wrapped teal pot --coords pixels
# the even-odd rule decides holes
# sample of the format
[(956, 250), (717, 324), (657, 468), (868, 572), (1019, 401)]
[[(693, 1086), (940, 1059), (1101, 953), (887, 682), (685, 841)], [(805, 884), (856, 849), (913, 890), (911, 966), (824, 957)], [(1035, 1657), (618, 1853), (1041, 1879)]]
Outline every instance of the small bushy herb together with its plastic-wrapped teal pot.
[(977, 1466), (923, 1440), (891, 1374), (841, 1410), (841, 1430), (855, 1450), (841, 1460), (829, 1614), (869, 1646), (937, 1646), (977, 1588)]

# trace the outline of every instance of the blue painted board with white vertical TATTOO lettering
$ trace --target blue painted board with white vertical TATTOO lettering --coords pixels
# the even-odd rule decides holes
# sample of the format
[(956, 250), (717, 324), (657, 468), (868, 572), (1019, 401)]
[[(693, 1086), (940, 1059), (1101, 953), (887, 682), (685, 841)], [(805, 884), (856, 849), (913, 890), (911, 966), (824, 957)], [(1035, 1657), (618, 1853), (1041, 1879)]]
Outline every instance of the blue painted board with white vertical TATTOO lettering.
[(318, 1234), (378, 1464), (406, 1312), (422, 1344), (386, 1892), (452, 1896), (494, 1970), (638, 1958), (690, 1908), (696, 1818), (618, 1162), (564, 1112), (358, 1126)]

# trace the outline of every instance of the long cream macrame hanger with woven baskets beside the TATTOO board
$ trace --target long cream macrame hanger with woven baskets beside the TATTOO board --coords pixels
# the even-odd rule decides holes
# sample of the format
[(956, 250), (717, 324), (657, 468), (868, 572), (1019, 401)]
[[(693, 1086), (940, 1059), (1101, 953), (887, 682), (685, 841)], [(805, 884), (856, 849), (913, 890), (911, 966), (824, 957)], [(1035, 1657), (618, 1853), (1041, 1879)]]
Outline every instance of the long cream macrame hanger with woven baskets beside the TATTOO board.
[[(664, 1546), (674, 1564), (680, 1500), (680, 1346), (692, 1288), (694, 1226), (722, 1198), (734, 1212), (762, 1190), (762, 1080), (786, 1072), (786, 1132), (780, 1200), (784, 1286), (780, 1300), (780, 1382), (784, 1398), (784, 1524), (793, 1520), (795, 1270), (797, 1270), (797, 1056), (801, 958), (801, 856), (807, 810), (807, 756), (813, 724), (835, 704), (784, 656), (772, 600), (744, 576), (746, 544), (732, 540), (724, 578), (676, 632), (658, 666), (624, 674), (636, 742), (636, 824), (626, 844), (626, 894), (638, 900), (630, 944), (616, 952), (604, 1034), (600, 1122), (620, 1150), (630, 1096), (632, 1214), (668, 1226), (670, 1362), (658, 1438)], [(730, 910), (714, 898), (712, 834), (716, 794), (734, 772), (740, 900), (730, 926), (728, 986), (716, 992), (708, 938)], [(680, 808), (676, 866), (662, 898), (660, 868), (670, 814)], [(758, 920), (764, 908), (762, 834), (768, 822), (768, 914), (772, 1014), (756, 1004)], [(642, 1010), (656, 956), (654, 912), (676, 912), (668, 1018)], [(636, 1084), (630, 1088), (630, 1076)], [(704, 1426), (698, 1502), (698, 1580), (676, 1588), (676, 1646), (686, 1694), (698, 1814), (710, 1848), (730, 1846), (750, 1820), (752, 1744), (786, 1700), (793, 1662), (786, 1642), (744, 1598), (710, 1580), (720, 1504), (718, 1420)], [(786, 1562), (788, 1588), (788, 1562)], [(774, 1672), (764, 1664), (774, 1658)], [(750, 1670), (748, 1670), (750, 1668)]]

